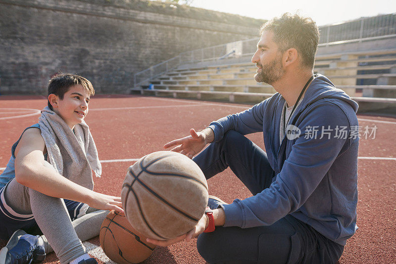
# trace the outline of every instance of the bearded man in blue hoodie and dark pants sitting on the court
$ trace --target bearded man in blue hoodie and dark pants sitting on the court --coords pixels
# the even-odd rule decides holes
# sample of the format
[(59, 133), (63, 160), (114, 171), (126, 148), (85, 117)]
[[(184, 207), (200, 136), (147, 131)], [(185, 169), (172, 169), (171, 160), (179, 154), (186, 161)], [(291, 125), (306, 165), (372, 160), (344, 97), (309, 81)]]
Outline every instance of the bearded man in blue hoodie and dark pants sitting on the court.
[[(209, 199), (216, 209), (188, 234), (149, 241), (191, 240), (214, 223), (197, 242), (208, 263), (336, 263), (357, 228), (357, 104), (313, 75), (319, 32), (310, 18), (286, 13), (260, 35), (254, 78), (278, 93), (164, 146), (193, 158), (211, 143), (194, 158), (206, 178), (230, 167), (253, 196)], [(244, 136), (260, 131), (266, 152)]]

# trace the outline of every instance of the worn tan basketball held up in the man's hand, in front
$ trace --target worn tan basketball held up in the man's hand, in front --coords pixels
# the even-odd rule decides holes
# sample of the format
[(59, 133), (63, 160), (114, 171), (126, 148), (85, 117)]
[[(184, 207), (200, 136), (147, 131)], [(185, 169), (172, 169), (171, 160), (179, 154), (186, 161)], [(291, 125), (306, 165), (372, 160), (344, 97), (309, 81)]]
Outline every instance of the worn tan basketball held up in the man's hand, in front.
[(205, 176), (183, 154), (158, 151), (129, 167), (121, 190), (129, 222), (140, 233), (168, 240), (190, 231), (208, 199)]

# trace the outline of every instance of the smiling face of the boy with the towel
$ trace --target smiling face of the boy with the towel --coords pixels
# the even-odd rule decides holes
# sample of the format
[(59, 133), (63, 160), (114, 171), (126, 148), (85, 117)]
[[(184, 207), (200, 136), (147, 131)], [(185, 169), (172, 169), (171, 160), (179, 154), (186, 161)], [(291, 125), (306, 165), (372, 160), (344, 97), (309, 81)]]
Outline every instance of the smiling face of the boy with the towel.
[(82, 85), (70, 87), (63, 95), (62, 100), (59, 97), (56, 99), (57, 105), (53, 109), (66, 122), (70, 129), (73, 129), (76, 124), (83, 122), (85, 116), (88, 114), (90, 96)]

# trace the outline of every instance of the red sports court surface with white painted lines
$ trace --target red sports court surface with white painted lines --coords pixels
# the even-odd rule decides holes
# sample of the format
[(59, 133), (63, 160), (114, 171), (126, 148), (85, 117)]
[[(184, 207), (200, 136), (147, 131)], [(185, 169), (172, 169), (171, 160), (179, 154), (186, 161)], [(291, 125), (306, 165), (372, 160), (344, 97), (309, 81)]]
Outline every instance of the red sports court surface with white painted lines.
[[(12, 144), (24, 128), (37, 123), (43, 96), (0, 97), (0, 168), (6, 166)], [(86, 122), (91, 128), (103, 162), (103, 175), (95, 178), (95, 189), (120, 195), (127, 168), (137, 159), (162, 150), (164, 143), (185, 136), (190, 128), (204, 129), (211, 121), (242, 111), (248, 105), (157, 97), (97, 95), (90, 103)], [(33, 109), (33, 110), (32, 110)], [(21, 117), (23, 116), (23, 117)], [(341, 264), (396, 263), (396, 119), (358, 115), (361, 127), (377, 126), (375, 138), (361, 138), (358, 162), (358, 215), (356, 234), (347, 241)], [(262, 133), (247, 136), (263, 147)], [(373, 158), (374, 157), (374, 158)], [(379, 159), (378, 159), (379, 158)], [(391, 159), (381, 159), (391, 158)], [(228, 169), (208, 180), (209, 193), (231, 203), (250, 196), (247, 188)], [(89, 241), (99, 245), (99, 238)], [(0, 241), (3, 247), (5, 241)], [(95, 255), (96, 256), (96, 255)], [(47, 263), (56, 263), (50, 254)], [(101, 262), (99, 260), (99, 262)], [(157, 248), (144, 263), (205, 263), (196, 240)]]

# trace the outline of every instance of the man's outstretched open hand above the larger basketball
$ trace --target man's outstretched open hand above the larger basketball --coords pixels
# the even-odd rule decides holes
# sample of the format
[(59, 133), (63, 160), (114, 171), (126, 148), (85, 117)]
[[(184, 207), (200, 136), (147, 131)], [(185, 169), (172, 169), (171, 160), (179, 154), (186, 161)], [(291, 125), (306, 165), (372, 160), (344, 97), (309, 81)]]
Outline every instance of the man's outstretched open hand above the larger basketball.
[(201, 132), (191, 129), (190, 134), (189, 136), (166, 143), (164, 149), (173, 147), (170, 151), (180, 152), (192, 159), (207, 143), (211, 143), (214, 138), (214, 132), (210, 128), (206, 128)]

